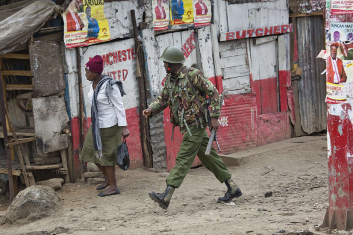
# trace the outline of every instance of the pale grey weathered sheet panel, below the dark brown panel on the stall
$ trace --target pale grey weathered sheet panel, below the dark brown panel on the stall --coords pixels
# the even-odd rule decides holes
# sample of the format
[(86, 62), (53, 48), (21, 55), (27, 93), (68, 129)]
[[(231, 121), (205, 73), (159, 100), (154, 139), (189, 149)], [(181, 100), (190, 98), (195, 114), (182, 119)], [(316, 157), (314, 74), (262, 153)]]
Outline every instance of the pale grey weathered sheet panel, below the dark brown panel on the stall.
[(32, 104), (37, 153), (66, 149), (70, 135), (62, 134), (69, 121), (64, 95), (33, 98)]

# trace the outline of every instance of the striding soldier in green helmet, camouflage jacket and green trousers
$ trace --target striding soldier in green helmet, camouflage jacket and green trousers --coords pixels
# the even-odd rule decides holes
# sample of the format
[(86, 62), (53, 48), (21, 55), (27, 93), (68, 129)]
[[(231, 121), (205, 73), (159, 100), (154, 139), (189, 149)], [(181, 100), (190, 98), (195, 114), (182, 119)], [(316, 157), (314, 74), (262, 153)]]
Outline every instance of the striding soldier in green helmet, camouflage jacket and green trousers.
[(221, 183), (225, 182), (227, 185), (228, 190), (225, 196), (218, 198), (217, 202), (230, 202), (233, 198), (240, 197), (242, 195), (240, 188), (232, 180), (231, 173), (216, 150), (212, 148), (211, 154), (205, 156), (209, 141), (206, 132), (206, 94), (211, 103), (211, 128), (217, 131), (220, 125), (218, 117), (221, 115), (221, 97), (216, 87), (200, 70), (193, 67), (186, 68), (183, 65), (185, 58), (180, 48), (175, 46), (166, 48), (160, 59), (163, 60), (167, 72), (164, 86), (158, 98), (143, 110), (143, 114), (146, 118), (152, 117), (169, 106), (173, 132), (174, 126), (179, 126), (181, 134), (185, 133), (175, 160), (175, 166), (167, 177), (166, 190), (163, 193), (150, 191), (148, 193), (150, 198), (161, 208), (167, 209), (175, 188), (178, 188), (183, 182), (196, 155)]

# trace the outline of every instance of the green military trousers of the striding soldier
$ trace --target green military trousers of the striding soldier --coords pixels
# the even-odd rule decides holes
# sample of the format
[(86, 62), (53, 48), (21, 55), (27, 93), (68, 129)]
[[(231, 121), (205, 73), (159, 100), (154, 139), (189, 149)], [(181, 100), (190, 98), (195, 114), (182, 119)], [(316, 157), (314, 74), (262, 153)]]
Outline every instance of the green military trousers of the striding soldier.
[(167, 177), (167, 185), (179, 188), (187, 172), (189, 172), (196, 155), (202, 164), (211, 171), (221, 183), (231, 178), (231, 173), (229, 173), (226, 165), (214, 148), (211, 149), (209, 156), (205, 156), (209, 140), (206, 128), (190, 126), (190, 132), (192, 135), (190, 135), (189, 131), (186, 131), (184, 134), (177, 159), (175, 160), (175, 166)]

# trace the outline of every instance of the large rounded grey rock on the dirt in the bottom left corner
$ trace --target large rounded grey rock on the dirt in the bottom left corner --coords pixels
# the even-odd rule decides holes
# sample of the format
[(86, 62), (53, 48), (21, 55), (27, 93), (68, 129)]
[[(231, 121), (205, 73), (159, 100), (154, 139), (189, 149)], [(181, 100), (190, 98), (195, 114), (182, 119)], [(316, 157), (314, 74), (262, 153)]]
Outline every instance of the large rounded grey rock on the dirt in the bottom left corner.
[(10, 224), (28, 223), (55, 213), (61, 205), (60, 197), (53, 188), (31, 186), (17, 194), (7, 208), (3, 221)]

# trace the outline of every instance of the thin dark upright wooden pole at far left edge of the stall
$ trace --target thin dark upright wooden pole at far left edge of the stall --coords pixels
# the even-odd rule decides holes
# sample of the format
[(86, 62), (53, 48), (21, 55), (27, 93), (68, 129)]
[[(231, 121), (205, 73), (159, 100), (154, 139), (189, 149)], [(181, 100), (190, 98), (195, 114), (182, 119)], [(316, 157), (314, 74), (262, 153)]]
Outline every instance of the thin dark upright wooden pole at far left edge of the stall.
[[(1, 71), (0, 71), (0, 78), (2, 78)], [(4, 131), (4, 143), (5, 143), (5, 150), (6, 150), (6, 166), (7, 166), (7, 175), (8, 175), (8, 186), (10, 188), (10, 200), (11, 202), (15, 198), (14, 191), (13, 191), (13, 178), (12, 178), (12, 167), (11, 167), (11, 153), (10, 148), (6, 146), (8, 144), (8, 137), (7, 137), (7, 128), (6, 128), (6, 112), (5, 112), (5, 87), (4, 87), (4, 78), (0, 82), (0, 110), (1, 110), (1, 120), (2, 120), (2, 131)]]

